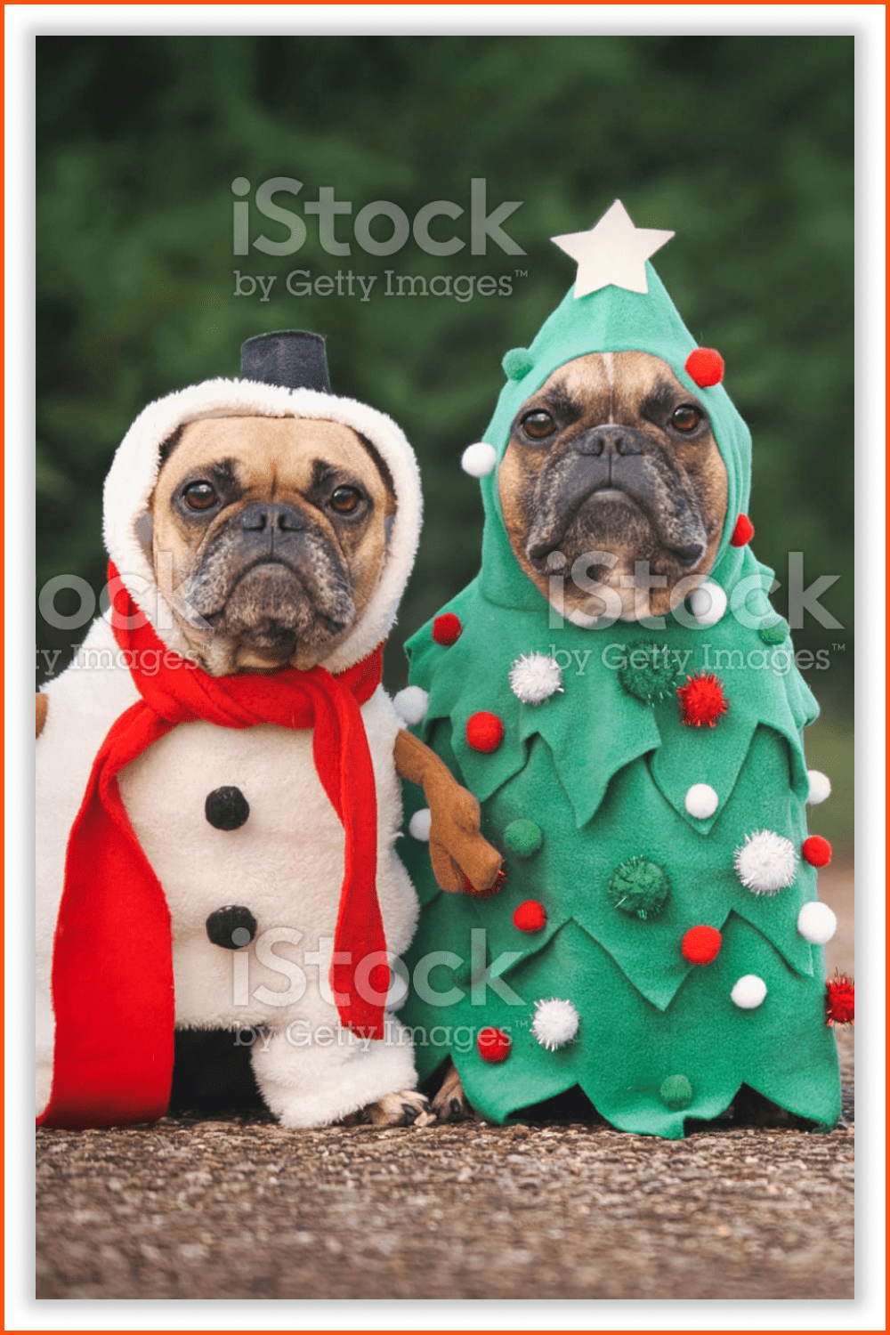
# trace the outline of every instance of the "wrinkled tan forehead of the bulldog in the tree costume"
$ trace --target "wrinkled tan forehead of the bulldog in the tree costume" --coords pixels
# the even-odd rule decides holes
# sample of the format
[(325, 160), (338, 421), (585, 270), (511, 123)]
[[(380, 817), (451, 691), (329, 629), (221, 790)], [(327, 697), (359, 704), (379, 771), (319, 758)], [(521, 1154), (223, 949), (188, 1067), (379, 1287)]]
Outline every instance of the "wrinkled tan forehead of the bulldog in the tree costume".
[(656, 417), (669, 406), (699, 399), (650, 352), (588, 352), (558, 367), (539, 390), (522, 405), (518, 417), (530, 407), (546, 407), (563, 426), (571, 422), (631, 422)]

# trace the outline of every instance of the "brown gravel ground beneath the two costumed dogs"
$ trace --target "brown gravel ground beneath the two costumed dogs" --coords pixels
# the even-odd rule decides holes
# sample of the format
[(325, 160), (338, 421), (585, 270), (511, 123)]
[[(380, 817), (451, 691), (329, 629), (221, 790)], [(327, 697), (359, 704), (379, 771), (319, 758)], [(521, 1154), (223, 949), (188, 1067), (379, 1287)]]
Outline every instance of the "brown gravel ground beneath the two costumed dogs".
[[(851, 880), (830, 967), (853, 968)], [(37, 1298), (853, 1298), (853, 1033), (829, 1135), (602, 1123), (37, 1135)]]

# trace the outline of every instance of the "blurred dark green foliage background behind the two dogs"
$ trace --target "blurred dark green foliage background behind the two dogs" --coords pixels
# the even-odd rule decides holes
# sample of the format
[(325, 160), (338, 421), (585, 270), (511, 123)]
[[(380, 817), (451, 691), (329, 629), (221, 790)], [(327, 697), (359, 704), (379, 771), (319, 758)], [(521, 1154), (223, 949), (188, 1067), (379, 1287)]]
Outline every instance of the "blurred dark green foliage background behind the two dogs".
[[(811, 752), (829, 772), (849, 765), (851, 37), (39, 37), (36, 87), (39, 586), (72, 573), (101, 589), (101, 482), (149, 399), (238, 374), (252, 334), (311, 328), (328, 338), (335, 391), (390, 413), (420, 459), (427, 518), (400, 645), (478, 569), (482, 507), (459, 457), (491, 415), (503, 352), (574, 280), (548, 238), (620, 198), (638, 226), (677, 232), (656, 268), (726, 359), (754, 435), (759, 558), (783, 585), (789, 551), (805, 553), (805, 583), (841, 577), (822, 601), (843, 629), (807, 617), (795, 645), (830, 663), (806, 674), (826, 712)], [(470, 180), (484, 178), (490, 208), (522, 200), (504, 226), (527, 254), (488, 243), (435, 259), (410, 240), (335, 258), (307, 216), (298, 254), (234, 256), (238, 176), (254, 190), (298, 178), (299, 199), (280, 202), (300, 216), (322, 186), (352, 218), (379, 199), (410, 218), (454, 200), (467, 214), (434, 224), (443, 238), (468, 238)], [(287, 236), (254, 210), (259, 232)], [(338, 236), (352, 239), (351, 219)], [(367, 302), (294, 298), (295, 268), (379, 280)], [(510, 276), (512, 294), (386, 298), (387, 268)], [(271, 299), (235, 296), (235, 270), (276, 275)], [(63, 593), (56, 606), (76, 602)], [(56, 672), (81, 634), (37, 615)], [(817, 828), (846, 841), (851, 789), (839, 797)]]

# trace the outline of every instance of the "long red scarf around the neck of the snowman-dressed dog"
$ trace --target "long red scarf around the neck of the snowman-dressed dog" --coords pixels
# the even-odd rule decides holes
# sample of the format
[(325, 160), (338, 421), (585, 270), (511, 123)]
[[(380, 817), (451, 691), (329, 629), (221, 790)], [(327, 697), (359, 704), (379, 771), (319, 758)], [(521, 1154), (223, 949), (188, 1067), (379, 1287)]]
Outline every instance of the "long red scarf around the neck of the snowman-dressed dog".
[[(112, 724), (68, 837), (52, 961), (53, 1083), (39, 1119), (47, 1127), (152, 1121), (167, 1111), (175, 1019), (169, 909), (129, 824), (117, 774), (176, 724), (312, 729), (315, 768), (346, 833), (331, 988), (343, 1025), (383, 1036), (383, 1005), (355, 987), (362, 959), (386, 951), (376, 793), (359, 710), (380, 684), (383, 646), (336, 677), (323, 668), (209, 677), (160, 642), (113, 563), (108, 582), (115, 638), (141, 698)], [(380, 976), (378, 967), (372, 987)]]

